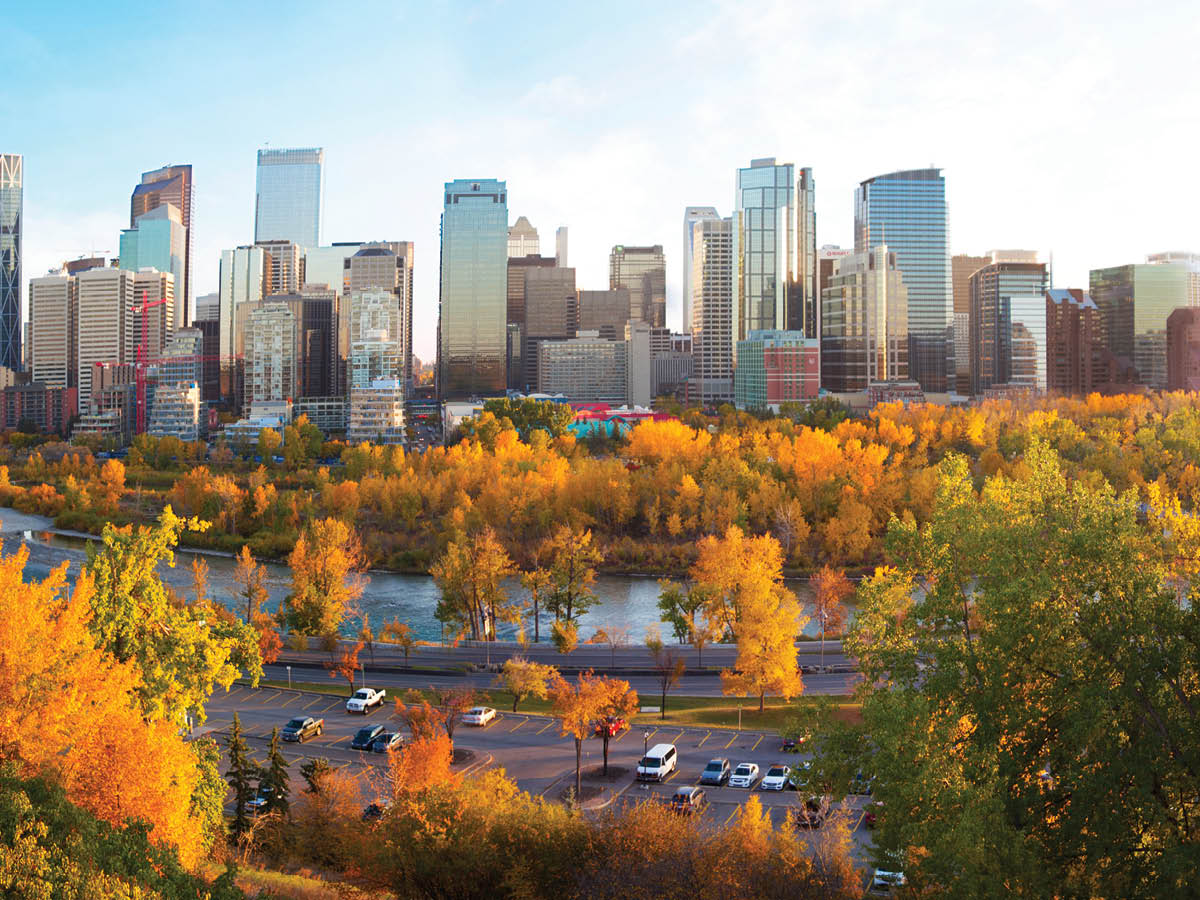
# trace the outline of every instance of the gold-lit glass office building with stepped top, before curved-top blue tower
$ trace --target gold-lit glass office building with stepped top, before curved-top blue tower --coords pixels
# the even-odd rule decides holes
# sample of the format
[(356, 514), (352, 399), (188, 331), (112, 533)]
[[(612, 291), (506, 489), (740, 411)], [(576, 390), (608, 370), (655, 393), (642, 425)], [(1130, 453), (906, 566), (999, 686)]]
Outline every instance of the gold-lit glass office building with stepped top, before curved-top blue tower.
[(890, 247), (836, 259), (821, 310), (821, 386), (854, 392), (908, 379), (908, 288)]

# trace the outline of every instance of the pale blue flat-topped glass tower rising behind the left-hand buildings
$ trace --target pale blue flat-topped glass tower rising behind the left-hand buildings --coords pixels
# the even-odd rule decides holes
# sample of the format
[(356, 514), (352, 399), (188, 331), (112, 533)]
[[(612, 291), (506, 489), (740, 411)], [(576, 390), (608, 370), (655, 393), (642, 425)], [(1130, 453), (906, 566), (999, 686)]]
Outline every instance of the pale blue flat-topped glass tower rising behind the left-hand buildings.
[(325, 210), (325, 151), (259, 150), (254, 179), (254, 244), (320, 246)]

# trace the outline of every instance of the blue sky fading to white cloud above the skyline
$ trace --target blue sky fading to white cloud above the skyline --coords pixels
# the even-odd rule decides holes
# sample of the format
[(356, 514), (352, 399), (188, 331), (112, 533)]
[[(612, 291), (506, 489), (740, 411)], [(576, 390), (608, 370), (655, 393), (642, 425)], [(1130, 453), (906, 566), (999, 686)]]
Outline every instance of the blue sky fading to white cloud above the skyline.
[(0, 152), (23, 154), (28, 280), (115, 256), (140, 173), (191, 163), (194, 289), (253, 240), (256, 151), (325, 149), (324, 242), (415, 242), (432, 358), (442, 186), (508, 181), (581, 288), (662, 244), (679, 326), (683, 211), (728, 215), (755, 157), (809, 166), (817, 242), (853, 191), (941, 167), (950, 250), (1088, 269), (1200, 251), (1194, 0), (896, 4), (6, 4)]

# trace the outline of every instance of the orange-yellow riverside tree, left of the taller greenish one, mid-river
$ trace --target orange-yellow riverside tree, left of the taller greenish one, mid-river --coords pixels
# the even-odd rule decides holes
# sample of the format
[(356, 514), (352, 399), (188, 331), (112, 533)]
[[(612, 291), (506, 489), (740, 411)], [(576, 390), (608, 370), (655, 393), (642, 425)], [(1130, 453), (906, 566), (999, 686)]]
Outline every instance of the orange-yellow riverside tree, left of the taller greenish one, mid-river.
[(469, 632), (472, 640), (494, 641), (497, 620), (521, 618), (503, 586), (512, 571), (512, 560), (491, 528), (450, 541), (431, 569), (442, 592), (438, 620)]

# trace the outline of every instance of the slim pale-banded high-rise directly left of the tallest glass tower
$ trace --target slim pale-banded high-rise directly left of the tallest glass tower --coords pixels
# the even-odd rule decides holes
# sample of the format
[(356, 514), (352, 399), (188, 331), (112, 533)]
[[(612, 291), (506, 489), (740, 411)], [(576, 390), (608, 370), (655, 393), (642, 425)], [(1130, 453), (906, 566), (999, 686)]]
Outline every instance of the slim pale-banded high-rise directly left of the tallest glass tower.
[(691, 396), (704, 404), (733, 400), (734, 281), (733, 220), (702, 218), (692, 224)]

